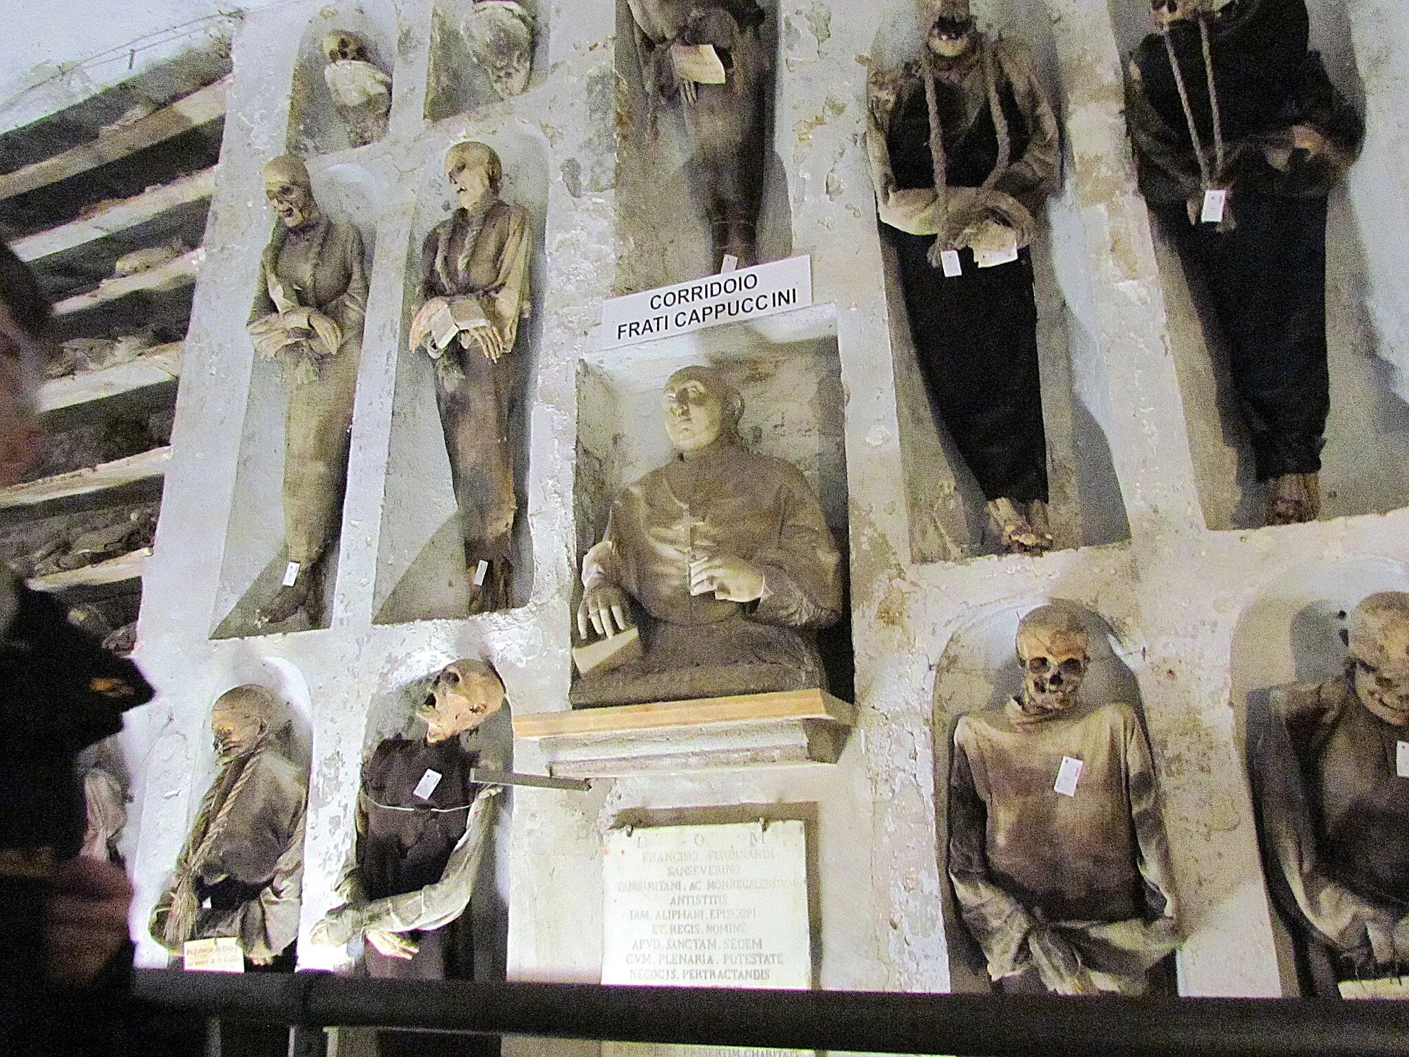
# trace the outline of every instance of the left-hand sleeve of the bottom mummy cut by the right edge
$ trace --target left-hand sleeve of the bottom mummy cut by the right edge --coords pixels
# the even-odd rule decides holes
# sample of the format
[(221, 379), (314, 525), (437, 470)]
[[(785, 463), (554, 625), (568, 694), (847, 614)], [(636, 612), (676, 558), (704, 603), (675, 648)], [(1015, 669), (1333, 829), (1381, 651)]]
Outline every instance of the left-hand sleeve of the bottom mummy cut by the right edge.
[(1262, 792), (1262, 832), (1306, 923), (1332, 947), (1370, 967), (1377, 958), (1365, 922), (1392, 932), (1398, 915), (1332, 879), (1320, 863), (1306, 792), (1289, 727), (1324, 722), (1319, 688), (1272, 691), (1272, 722), (1255, 758)]

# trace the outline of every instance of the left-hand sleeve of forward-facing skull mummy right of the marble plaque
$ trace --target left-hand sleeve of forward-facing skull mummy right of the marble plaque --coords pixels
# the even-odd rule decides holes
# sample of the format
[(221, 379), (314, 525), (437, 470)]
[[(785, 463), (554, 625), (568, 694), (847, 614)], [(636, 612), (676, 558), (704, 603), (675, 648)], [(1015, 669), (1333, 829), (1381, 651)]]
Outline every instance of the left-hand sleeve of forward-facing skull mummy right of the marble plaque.
[(983, 948), (988, 975), (1002, 979), (1027, 968), (1027, 934), (1034, 919), (989, 875), (988, 809), (979, 796), (981, 782), (986, 785), (983, 755), (974, 744), (968, 716), (962, 716), (954, 729), (950, 762), (950, 881), (964, 923)]

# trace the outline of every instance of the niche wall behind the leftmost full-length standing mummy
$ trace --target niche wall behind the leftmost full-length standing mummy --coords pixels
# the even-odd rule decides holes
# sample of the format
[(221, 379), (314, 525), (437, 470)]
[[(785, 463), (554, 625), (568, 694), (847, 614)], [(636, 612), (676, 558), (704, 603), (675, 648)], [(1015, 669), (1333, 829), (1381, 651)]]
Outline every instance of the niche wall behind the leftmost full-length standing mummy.
[[(372, 275), (372, 248), (382, 203), (390, 189), (368, 169), (354, 163), (309, 165), (313, 194), (323, 213), (334, 221), (352, 223), (362, 234), (364, 266)], [(268, 228), (273, 234), (273, 225)], [(265, 240), (268, 241), (268, 238)], [(244, 328), (258, 283), (258, 254), (249, 255), (251, 272), (244, 296), (231, 297), (227, 310)], [(237, 338), (244, 355), (254, 358), (249, 393), (240, 434), (240, 461), (235, 471), (234, 499), (225, 526), (225, 551), (220, 569), (220, 589), (213, 614), (213, 638), (302, 631), (310, 627), (306, 613), (299, 613), (276, 629), (258, 627), (255, 610), (279, 588), (286, 565), (283, 526), (283, 431), (289, 403), (292, 368), (278, 361), (261, 359), (254, 344), (242, 334)], [(364, 338), (364, 358), (366, 357)], [(334, 530), (323, 555), (324, 622), (328, 626), (333, 591), (338, 571), (338, 537)]]

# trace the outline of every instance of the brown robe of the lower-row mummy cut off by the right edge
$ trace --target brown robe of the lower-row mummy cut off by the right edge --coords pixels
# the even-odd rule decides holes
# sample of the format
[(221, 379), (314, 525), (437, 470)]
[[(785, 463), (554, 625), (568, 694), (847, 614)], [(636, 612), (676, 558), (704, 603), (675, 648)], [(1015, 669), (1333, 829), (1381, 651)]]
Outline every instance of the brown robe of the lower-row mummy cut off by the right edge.
[(1271, 705), (1253, 767), (1262, 834), (1285, 882), (1275, 891), (1357, 972), (1405, 961), (1409, 778), (1395, 764), (1409, 729), (1365, 709), (1348, 678), (1275, 689)]

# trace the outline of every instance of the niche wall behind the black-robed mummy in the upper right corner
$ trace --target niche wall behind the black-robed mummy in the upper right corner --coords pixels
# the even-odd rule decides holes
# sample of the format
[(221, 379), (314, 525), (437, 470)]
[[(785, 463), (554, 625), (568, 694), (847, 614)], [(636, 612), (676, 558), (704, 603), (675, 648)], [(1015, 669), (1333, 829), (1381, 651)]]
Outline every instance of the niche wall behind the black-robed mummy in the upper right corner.
[[(1364, 97), (1351, 51), (1344, 0), (1308, 0), (1310, 47), (1347, 99)], [(1129, 55), (1154, 31), (1150, 8), (1133, 0), (1109, 0), (1116, 42)], [(1323, 520), (1346, 514), (1388, 513), (1409, 503), (1409, 404), (1395, 365), (1402, 358), (1398, 331), (1382, 333), (1370, 303), (1370, 273), (1384, 272), (1368, 258), (1384, 245), (1384, 231), (1402, 228), (1402, 199), (1351, 194), (1351, 180), (1330, 192), (1326, 220), (1326, 342), (1330, 368), (1330, 416), (1322, 451)], [(1234, 204), (1236, 214), (1236, 204)], [(1164, 289), (1169, 350), (1182, 393), (1195, 483), (1209, 528), (1262, 524), (1264, 492), (1254, 479), (1253, 450), (1237, 407), (1227, 351), (1212, 319), (1205, 290), (1191, 283), (1168, 231), (1151, 213), (1155, 259)], [(1398, 252), (1398, 249), (1395, 249)]]

